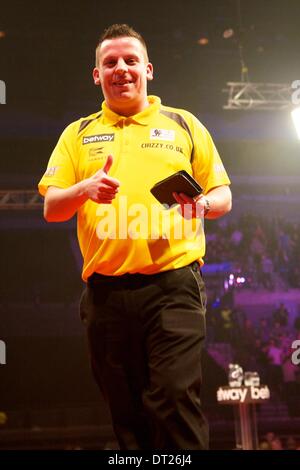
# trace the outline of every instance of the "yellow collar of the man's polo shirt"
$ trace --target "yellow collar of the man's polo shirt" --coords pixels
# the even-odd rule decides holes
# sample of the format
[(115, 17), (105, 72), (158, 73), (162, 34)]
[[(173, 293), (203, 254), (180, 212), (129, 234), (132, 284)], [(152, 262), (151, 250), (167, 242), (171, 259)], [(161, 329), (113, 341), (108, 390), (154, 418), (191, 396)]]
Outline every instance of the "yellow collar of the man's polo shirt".
[(160, 98), (158, 96), (148, 96), (147, 97), (149, 106), (143, 111), (141, 111), (138, 114), (134, 114), (133, 116), (121, 116), (120, 114), (115, 113), (112, 111), (105, 101), (102, 103), (102, 111), (103, 111), (103, 120), (104, 124), (108, 124), (111, 126), (114, 126), (120, 121), (132, 121), (132, 122), (137, 122), (138, 124), (142, 124), (146, 126), (152, 116), (158, 112), (160, 108)]

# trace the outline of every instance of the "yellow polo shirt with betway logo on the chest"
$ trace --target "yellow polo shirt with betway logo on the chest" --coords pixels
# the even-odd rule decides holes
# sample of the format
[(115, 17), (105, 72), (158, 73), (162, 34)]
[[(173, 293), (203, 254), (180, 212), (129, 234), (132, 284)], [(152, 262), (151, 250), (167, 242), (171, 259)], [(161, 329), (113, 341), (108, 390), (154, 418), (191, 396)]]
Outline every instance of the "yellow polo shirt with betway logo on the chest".
[(205, 237), (201, 219), (184, 219), (178, 207), (166, 210), (151, 194), (158, 181), (186, 170), (203, 188), (230, 184), (205, 127), (189, 112), (163, 106), (149, 96), (149, 107), (120, 116), (102, 111), (70, 124), (62, 133), (39, 183), (68, 188), (92, 176), (113, 156), (109, 175), (120, 181), (109, 204), (86, 201), (77, 213), (83, 255), (83, 280), (104, 275), (152, 274), (203, 263)]

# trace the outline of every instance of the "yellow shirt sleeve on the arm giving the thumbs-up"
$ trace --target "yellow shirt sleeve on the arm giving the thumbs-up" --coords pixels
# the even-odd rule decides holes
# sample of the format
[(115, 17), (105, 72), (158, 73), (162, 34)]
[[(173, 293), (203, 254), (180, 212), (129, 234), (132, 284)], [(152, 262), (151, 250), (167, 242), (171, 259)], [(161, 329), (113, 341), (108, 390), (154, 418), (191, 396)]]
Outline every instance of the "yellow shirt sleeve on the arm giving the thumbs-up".
[(68, 188), (76, 178), (76, 123), (70, 124), (60, 136), (48, 162), (46, 172), (38, 184), (39, 192), (45, 196), (49, 186)]

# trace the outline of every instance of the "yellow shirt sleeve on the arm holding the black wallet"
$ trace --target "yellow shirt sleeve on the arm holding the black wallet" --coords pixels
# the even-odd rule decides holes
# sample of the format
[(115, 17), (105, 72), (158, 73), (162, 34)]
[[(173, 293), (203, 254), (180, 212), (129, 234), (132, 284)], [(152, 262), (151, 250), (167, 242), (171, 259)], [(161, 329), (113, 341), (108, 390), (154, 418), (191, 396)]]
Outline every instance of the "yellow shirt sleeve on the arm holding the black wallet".
[(208, 130), (195, 117), (193, 121), (193, 176), (206, 194), (218, 186), (229, 185), (230, 179)]

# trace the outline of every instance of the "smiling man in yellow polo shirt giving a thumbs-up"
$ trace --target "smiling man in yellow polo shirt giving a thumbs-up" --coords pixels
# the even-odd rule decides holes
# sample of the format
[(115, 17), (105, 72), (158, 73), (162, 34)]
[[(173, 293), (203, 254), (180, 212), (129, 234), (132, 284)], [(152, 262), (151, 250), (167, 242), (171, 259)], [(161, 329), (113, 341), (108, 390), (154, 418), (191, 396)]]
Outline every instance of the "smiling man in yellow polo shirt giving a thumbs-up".
[[(96, 49), (102, 110), (70, 124), (39, 190), (48, 222), (77, 213), (81, 317), (121, 449), (206, 449), (203, 217), (231, 209), (230, 181), (204, 126), (147, 95), (146, 44), (112, 25)], [(150, 189), (185, 170), (203, 188), (161, 206)]]

